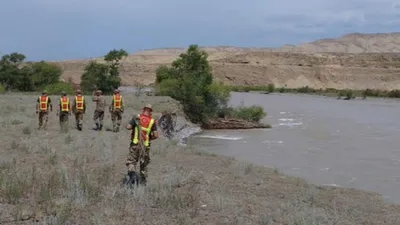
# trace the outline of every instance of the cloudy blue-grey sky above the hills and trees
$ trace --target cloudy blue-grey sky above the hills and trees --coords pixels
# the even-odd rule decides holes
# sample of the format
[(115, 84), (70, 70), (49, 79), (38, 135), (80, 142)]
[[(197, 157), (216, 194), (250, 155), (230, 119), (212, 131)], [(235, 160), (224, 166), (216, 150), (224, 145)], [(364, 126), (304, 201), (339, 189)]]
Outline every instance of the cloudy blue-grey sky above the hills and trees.
[(280, 47), (400, 31), (400, 0), (0, 1), (0, 55), (19, 52), (27, 60), (190, 44)]

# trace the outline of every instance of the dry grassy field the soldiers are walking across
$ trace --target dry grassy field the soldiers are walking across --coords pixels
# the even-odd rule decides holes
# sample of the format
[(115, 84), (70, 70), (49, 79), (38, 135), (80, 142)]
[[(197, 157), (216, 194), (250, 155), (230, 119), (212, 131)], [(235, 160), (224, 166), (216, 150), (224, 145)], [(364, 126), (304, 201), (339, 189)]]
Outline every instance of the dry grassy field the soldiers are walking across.
[[(166, 97), (125, 97), (124, 124), (147, 102), (177, 108)], [(35, 101), (1, 96), (0, 224), (400, 224), (400, 206), (380, 195), (315, 186), (164, 138), (154, 141), (148, 186), (126, 190), (128, 131), (91, 130), (91, 102), (83, 131), (70, 120), (60, 132), (55, 111), (38, 131)]]

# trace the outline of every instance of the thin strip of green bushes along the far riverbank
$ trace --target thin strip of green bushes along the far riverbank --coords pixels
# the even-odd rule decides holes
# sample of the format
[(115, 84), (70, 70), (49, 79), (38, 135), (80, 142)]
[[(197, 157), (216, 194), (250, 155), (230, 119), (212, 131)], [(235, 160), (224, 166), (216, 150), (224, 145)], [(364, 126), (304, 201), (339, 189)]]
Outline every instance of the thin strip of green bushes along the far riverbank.
[(355, 97), (380, 97), (380, 98), (400, 98), (400, 90), (394, 89), (391, 91), (387, 90), (378, 90), (378, 89), (365, 89), (365, 90), (352, 90), (352, 89), (335, 89), (335, 88), (326, 88), (326, 89), (315, 89), (309, 86), (299, 87), (299, 88), (287, 88), (287, 87), (278, 87), (275, 88), (274, 84), (268, 85), (233, 85), (228, 86), (229, 90), (235, 92), (249, 92), (249, 91), (260, 91), (260, 92), (279, 92), (279, 93), (302, 93), (302, 94), (317, 94), (317, 95), (337, 95), (340, 97), (345, 96), (346, 98), (350, 97), (353, 99)]

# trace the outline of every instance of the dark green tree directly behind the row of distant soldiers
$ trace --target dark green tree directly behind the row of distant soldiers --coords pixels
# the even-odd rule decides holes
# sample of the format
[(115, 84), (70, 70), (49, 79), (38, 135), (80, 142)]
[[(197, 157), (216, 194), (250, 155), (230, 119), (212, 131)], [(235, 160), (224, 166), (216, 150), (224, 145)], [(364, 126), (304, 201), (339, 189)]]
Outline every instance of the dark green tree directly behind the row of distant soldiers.
[(114, 88), (121, 85), (119, 77), (120, 61), (128, 53), (123, 50), (111, 50), (104, 56), (104, 63), (91, 61), (84, 69), (81, 76), (81, 87), (85, 91), (93, 90), (93, 87), (101, 89), (104, 93), (111, 93)]

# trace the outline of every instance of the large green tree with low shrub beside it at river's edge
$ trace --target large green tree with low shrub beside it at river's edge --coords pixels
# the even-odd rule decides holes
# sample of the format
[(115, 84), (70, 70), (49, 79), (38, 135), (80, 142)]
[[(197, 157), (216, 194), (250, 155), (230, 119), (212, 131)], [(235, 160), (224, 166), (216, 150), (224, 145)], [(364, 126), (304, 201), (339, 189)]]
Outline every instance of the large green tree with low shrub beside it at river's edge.
[[(161, 66), (156, 71), (157, 95), (171, 96), (183, 105), (185, 114), (193, 123), (204, 124), (226, 111), (230, 88), (213, 81), (207, 53), (197, 45), (189, 46), (186, 53), (171, 67)], [(251, 113), (245, 116), (245, 113)], [(261, 107), (241, 107), (228, 116), (258, 122), (265, 115)]]

